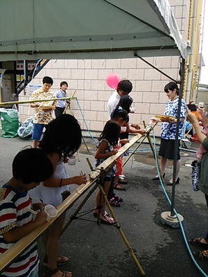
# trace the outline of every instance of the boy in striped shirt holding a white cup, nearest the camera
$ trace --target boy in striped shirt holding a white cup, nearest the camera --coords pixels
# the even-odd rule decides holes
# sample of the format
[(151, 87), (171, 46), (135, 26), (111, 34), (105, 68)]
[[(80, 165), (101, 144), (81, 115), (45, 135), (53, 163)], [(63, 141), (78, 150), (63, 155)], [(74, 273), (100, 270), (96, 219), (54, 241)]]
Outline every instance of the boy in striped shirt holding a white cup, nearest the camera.
[[(32, 208), (28, 190), (49, 179), (53, 166), (44, 152), (37, 148), (21, 150), (12, 162), (12, 178), (0, 189), (0, 260), (1, 255), (15, 242), (24, 238), (46, 221), (44, 204), (37, 203), (33, 208), (40, 209), (35, 220), (29, 211)], [(36, 242), (6, 268), (1, 276), (38, 276), (39, 258)]]

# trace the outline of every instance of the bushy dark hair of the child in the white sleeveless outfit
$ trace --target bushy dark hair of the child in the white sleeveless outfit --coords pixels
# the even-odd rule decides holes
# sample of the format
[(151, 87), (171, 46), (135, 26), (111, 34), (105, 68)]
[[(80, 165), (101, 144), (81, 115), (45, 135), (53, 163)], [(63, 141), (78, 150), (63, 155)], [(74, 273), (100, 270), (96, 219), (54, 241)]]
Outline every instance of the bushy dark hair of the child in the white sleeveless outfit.
[(62, 114), (46, 125), (40, 148), (46, 154), (58, 153), (70, 157), (80, 148), (82, 132), (78, 120), (71, 114)]

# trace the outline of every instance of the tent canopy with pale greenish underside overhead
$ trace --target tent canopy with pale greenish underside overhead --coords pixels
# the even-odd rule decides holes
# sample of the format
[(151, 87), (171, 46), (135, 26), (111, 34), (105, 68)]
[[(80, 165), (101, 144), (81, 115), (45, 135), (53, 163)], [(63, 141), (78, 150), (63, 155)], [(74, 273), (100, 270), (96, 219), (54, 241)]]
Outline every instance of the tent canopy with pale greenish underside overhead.
[(182, 55), (167, 0), (1, 0), (0, 61)]

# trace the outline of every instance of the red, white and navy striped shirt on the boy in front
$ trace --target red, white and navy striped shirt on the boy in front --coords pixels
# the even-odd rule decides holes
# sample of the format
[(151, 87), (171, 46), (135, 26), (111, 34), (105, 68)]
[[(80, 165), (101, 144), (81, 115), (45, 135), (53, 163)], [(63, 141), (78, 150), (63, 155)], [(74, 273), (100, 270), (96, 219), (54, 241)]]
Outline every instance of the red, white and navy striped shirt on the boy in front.
[[(33, 221), (33, 215), (27, 208), (31, 208), (31, 199), (27, 192), (19, 193), (7, 185), (0, 189), (0, 259), (1, 254), (15, 244), (15, 242), (6, 242), (3, 239), (3, 233)], [(32, 271), (37, 269), (38, 264), (35, 242), (3, 271), (1, 276), (30, 276)]]

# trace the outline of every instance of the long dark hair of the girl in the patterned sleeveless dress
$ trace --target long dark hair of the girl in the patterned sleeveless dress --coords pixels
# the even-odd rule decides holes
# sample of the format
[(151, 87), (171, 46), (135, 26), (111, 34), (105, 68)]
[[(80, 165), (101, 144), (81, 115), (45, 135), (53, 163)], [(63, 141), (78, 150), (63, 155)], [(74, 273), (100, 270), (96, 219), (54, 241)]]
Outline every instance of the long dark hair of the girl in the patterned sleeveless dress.
[(119, 126), (119, 124), (111, 120), (108, 120), (107, 123), (105, 123), (103, 132), (101, 133), (98, 141), (106, 139), (110, 143), (110, 145), (116, 146), (119, 141), (120, 132), (121, 127)]

